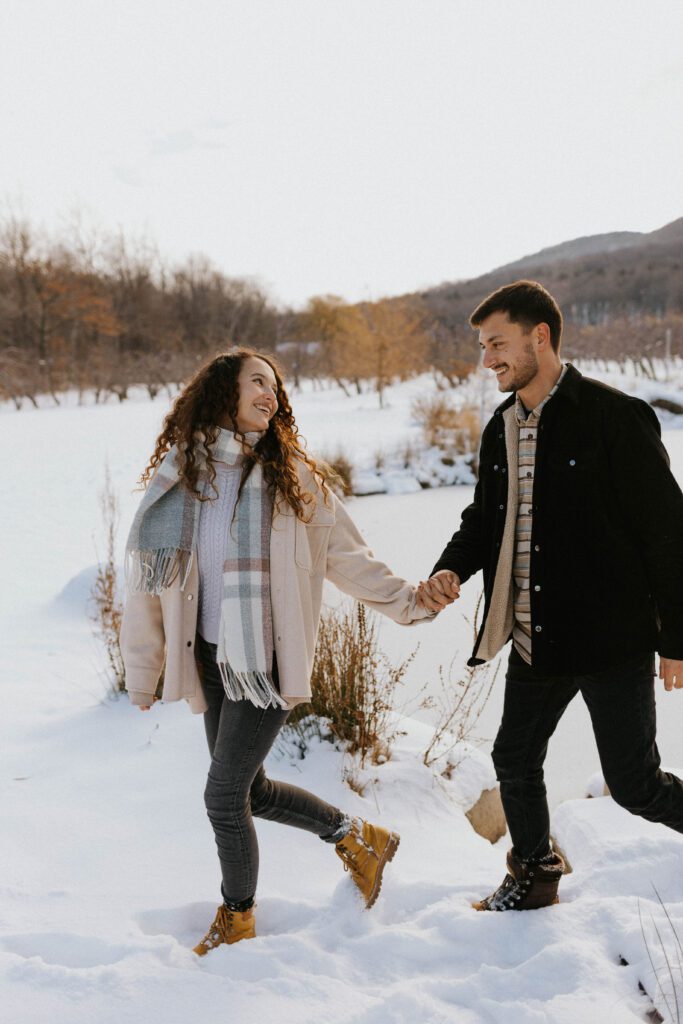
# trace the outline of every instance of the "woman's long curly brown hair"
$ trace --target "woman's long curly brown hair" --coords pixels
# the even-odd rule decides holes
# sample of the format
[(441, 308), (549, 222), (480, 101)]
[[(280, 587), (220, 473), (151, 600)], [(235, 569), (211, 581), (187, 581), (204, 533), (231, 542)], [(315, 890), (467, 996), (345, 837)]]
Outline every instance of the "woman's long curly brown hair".
[[(303, 438), (294, 420), (282, 373), (271, 355), (253, 348), (233, 348), (205, 364), (177, 396), (170, 413), (164, 420), (164, 429), (157, 438), (150, 464), (140, 476), (140, 483), (146, 486), (155, 470), (173, 444), (178, 449), (178, 469), (180, 480), (199, 501), (209, 501), (198, 487), (203, 457), (198, 458), (197, 449), (204, 449), (201, 435), (206, 438), (206, 460), (209, 480), (213, 484), (216, 469), (211, 457), (211, 444), (218, 436), (218, 421), (225, 415), (232, 422), (232, 429), (239, 439), (243, 434), (238, 429), (237, 415), (240, 399), (238, 376), (242, 364), (250, 357), (262, 359), (272, 370), (276, 381), (278, 411), (271, 418), (268, 429), (253, 449), (247, 447), (247, 461), (240, 482), (240, 493), (255, 463), (263, 467), (263, 475), (273, 489), (276, 500), (285, 501), (299, 519), (306, 521), (306, 508), (314, 502), (314, 497), (302, 488), (297, 472), (297, 462), (304, 463), (313, 480), (327, 501), (329, 487), (326, 482), (325, 464), (317, 463), (306, 454)], [(312, 514), (312, 510), (311, 510)]]

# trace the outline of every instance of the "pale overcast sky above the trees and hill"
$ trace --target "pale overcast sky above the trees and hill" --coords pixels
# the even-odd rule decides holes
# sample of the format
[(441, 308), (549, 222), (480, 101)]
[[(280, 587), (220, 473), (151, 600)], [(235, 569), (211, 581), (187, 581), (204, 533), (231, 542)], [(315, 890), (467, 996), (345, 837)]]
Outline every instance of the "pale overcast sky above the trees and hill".
[(0, 198), (379, 298), (683, 215), (680, 0), (1, 0)]

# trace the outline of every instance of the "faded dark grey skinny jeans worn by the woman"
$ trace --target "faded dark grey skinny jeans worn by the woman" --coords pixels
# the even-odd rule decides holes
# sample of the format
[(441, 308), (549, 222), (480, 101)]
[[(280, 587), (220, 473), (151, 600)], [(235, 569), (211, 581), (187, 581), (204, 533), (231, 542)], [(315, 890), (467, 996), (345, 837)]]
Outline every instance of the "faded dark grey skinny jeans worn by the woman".
[(222, 873), (223, 899), (234, 909), (253, 902), (258, 880), (258, 843), (252, 816), (294, 825), (335, 843), (349, 821), (311, 793), (267, 778), (263, 762), (289, 712), (228, 700), (216, 665), (216, 645), (199, 634), (204, 713), (211, 767), (204, 794)]

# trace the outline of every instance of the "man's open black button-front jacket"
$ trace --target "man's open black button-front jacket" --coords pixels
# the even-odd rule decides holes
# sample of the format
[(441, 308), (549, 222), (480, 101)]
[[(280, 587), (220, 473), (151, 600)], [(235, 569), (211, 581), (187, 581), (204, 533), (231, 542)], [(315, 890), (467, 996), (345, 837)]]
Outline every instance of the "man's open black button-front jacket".
[[(479, 481), (432, 569), (483, 569), (490, 605), (508, 497), (503, 413), (486, 424)], [(584, 675), (657, 650), (683, 658), (683, 494), (659, 421), (640, 398), (569, 366), (539, 424), (532, 497), (533, 667)], [(540, 627), (540, 631), (538, 630)]]

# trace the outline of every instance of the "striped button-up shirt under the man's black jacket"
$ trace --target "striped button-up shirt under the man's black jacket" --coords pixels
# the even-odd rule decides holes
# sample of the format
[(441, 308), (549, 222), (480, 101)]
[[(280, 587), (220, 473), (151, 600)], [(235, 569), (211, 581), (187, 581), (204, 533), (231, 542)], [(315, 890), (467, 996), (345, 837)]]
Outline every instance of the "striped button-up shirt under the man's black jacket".
[(517, 522), (515, 526), (515, 555), (512, 564), (514, 583), (514, 625), (512, 642), (519, 655), (531, 664), (531, 602), (529, 595), (529, 577), (531, 561), (531, 519), (533, 502), (533, 472), (536, 467), (536, 446), (539, 433), (539, 420), (547, 401), (557, 391), (566, 373), (562, 368), (557, 383), (536, 409), (527, 413), (519, 395), (515, 401), (515, 416), (519, 426), (519, 450), (517, 457), (517, 475), (519, 490), (517, 498)]

